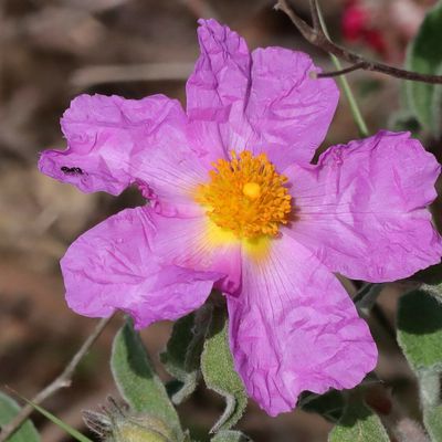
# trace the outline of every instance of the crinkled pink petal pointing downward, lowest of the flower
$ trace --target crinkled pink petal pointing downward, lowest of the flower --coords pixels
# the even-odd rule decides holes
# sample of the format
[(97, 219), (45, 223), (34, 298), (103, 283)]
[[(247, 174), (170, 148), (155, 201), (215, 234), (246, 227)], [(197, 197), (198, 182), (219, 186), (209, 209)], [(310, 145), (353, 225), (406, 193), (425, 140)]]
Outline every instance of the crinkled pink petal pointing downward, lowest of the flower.
[(303, 390), (352, 388), (376, 365), (343, 286), (290, 236), (275, 239), (264, 261), (243, 260), (242, 293), (228, 307), (236, 371), (270, 415), (292, 410)]

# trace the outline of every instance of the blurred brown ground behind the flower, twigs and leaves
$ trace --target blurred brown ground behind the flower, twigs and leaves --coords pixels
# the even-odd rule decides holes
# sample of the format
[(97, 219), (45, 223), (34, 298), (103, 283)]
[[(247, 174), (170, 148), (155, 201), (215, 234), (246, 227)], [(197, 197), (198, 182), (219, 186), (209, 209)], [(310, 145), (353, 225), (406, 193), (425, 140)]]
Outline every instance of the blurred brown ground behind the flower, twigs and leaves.
[[(308, 1), (292, 3), (308, 20)], [(433, 1), (322, 3), (336, 41), (400, 65)], [(186, 78), (199, 53), (199, 17), (227, 23), (251, 49), (303, 50), (324, 70), (333, 70), (328, 56), (303, 41), (273, 6), (267, 0), (0, 0), (0, 389), (10, 386), (31, 398), (62, 370), (94, 320), (66, 307), (59, 260), (82, 232), (143, 202), (135, 190), (118, 198), (83, 194), (38, 172), (39, 151), (64, 147), (59, 119), (70, 101), (81, 93), (130, 98), (162, 93), (185, 103)], [(370, 130), (387, 127), (400, 107), (400, 82), (355, 72), (350, 83)], [(357, 136), (343, 97), (324, 146)], [(347, 286), (356, 290), (350, 282)], [(383, 324), (379, 317), (371, 320), (382, 343), (377, 375), (394, 397), (403, 398), (400, 407), (417, 413), (409, 399), (412, 375), (391, 333), (400, 293), (400, 286), (388, 285), (380, 297)], [(81, 365), (72, 388), (45, 402), (80, 429), (81, 410), (96, 409), (107, 394), (116, 394), (107, 361), (120, 319), (115, 318)], [(167, 323), (143, 333), (155, 361), (169, 333)], [(185, 427), (201, 441), (222, 409), (221, 398), (204, 388), (179, 408)], [(44, 442), (70, 441), (53, 424), (34, 418)], [(239, 428), (255, 442), (320, 442), (330, 423), (301, 410), (271, 419), (251, 403)]]

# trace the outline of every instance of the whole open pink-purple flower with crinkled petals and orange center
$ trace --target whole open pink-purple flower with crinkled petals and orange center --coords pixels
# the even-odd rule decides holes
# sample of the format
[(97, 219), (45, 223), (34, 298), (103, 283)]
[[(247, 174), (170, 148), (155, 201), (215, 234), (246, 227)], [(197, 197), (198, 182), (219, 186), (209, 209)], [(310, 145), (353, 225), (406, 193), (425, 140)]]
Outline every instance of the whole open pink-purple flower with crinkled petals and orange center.
[(377, 360), (366, 323), (334, 272), (393, 281), (438, 263), (425, 207), (439, 165), (409, 134), (329, 148), (338, 102), (303, 53), (249, 52), (214, 20), (177, 101), (82, 95), (62, 118), (69, 148), (40, 169), (85, 192), (137, 183), (150, 204), (80, 236), (61, 265), (67, 303), (138, 328), (225, 294), (230, 345), (249, 394), (271, 415), (303, 390), (351, 388)]

